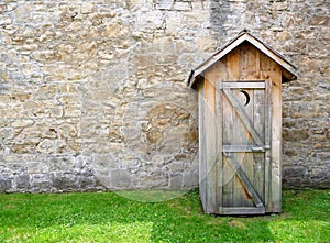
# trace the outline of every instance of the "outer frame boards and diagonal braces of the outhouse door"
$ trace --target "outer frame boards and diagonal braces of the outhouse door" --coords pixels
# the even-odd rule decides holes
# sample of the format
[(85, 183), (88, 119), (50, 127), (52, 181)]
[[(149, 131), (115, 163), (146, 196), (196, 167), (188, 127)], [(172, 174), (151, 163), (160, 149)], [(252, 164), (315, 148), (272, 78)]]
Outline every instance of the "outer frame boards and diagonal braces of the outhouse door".
[[(218, 124), (218, 133), (219, 133), (219, 144), (218, 144), (218, 156), (217, 156), (217, 170), (219, 180), (218, 181), (218, 206), (219, 206), (219, 213), (221, 214), (264, 214), (266, 212), (266, 207), (270, 200), (271, 196), (271, 156), (272, 156), (272, 81), (271, 80), (256, 80), (256, 81), (223, 81), (219, 84), (219, 99), (217, 99), (217, 110), (221, 112), (221, 119)], [(265, 102), (265, 120), (264, 120), (264, 128), (265, 128), (265, 139), (264, 142), (260, 137), (258, 133), (254, 129), (253, 123), (250, 121), (249, 115), (245, 114), (244, 110), (242, 109), (241, 104), (237, 102), (235, 97), (232, 96), (231, 89), (264, 89), (264, 102)], [(231, 106), (238, 108), (235, 109), (238, 117), (242, 120), (242, 123), (244, 124), (245, 129), (249, 131), (253, 140), (256, 142), (256, 146), (250, 146), (249, 150), (251, 150), (252, 153), (257, 152), (264, 152), (264, 202), (253, 188), (253, 185), (251, 184), (249, 177), (245, 175), (244, 170), (242, 169), (240, 163), (228, 153), (228, 151), (223, 150), (226, 145), (222, 144), (222, 121), (223, 121), (223, 97), (227, 96), (228, 101), (231, 103)], [(219, 110), (220, 109), (220, 110)], [(218, 114), (219, 115), (219, 114)], [(221, 139), (220, 139), (221, 137)], [(245, 150), (248, 146), (245, 147)], [(241, 184), (249, 196), (252, 198), (253, 203), (255, 207), (223, 207), (222, 206), (222, 181), (223, 181), (223, 156), (227, 157), (229, 164), (231, 165), (232, 169), (234, 169), (234, 176), (238, 176), (238, 178), (241, 180)]]

